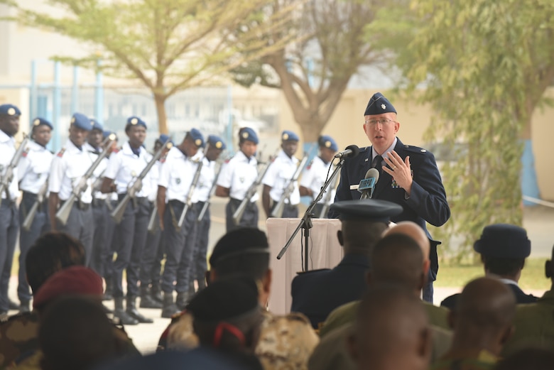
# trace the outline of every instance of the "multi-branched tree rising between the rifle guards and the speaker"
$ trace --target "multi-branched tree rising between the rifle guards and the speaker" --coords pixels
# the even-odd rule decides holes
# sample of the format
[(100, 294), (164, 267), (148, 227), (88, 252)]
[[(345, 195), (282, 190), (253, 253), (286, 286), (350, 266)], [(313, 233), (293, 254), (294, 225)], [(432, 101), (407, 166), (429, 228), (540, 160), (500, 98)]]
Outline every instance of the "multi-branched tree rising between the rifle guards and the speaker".
[[(371, 23), (385, 4), (401, 3), (307, 0), (288, 31), (298, 33), (296, 42), (243, 63), (233, 70), (235, 80), (247, 87), (257, 83), (282, 89), (304, 140), (316, 141), (359, 67), (386, 65), (391, 53), (381, 45), (390, 35), (371, 32)], [(286, 4), (287, 0), (277, 0), (273, 11)], [(266, 42), (271, 45), (283, 33), (268, 36)]]

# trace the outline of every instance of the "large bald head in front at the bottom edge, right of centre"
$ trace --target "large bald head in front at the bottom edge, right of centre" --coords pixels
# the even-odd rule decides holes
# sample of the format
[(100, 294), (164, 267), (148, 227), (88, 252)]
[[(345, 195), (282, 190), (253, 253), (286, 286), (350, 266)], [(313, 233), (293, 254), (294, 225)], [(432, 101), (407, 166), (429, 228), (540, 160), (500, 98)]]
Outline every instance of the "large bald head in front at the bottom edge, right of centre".
[(431, 334), (420, 300), (395, 285), (372, 288), (362, 299), (349, 352), (359, 370), (428, 369)]

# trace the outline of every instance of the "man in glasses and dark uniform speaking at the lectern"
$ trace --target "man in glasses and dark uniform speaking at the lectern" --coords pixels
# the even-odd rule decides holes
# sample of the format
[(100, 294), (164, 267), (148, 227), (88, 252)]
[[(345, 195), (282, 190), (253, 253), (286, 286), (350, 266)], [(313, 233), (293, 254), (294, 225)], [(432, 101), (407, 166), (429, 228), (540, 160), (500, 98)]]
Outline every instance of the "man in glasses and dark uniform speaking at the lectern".
[[(369, 168), (379, 170), (381, 175), (372, 198), (401, 205), (403, 212), (391, 221), (415, 222), (430, 239), (431, 268), (428, 284), (423, 289), (423, 300), (433, 303), (433, 281), (438, 271), (437, 245), (440, 241), (431, 239), (426, 222), (440, 227), (450, 218), (450, 207), (435, 156), (423, 148), (400, 141), (396, 136), (400, 129), (396, 109), (380, 92), (369, 99), (362, 127), (372, 145), (361, 148), (358, 156), (344, 161), (335, 202), (359, 199), (361, 193), (351, 190), (350, 185), (358, 185)], [(336, 218), (337, 213), (330, 211), (329, 217)]]

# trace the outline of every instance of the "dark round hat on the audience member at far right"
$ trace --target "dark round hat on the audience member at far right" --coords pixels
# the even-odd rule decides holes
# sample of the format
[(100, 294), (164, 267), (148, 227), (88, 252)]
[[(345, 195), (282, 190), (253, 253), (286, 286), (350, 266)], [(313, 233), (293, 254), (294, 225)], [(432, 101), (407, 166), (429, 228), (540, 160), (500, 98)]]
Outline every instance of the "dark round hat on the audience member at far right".
[(524, 259), (531, 254), (531, 241), (523, 227), (492, 224), (484, 227), (473, 249), (479, 254), (499, 259)]

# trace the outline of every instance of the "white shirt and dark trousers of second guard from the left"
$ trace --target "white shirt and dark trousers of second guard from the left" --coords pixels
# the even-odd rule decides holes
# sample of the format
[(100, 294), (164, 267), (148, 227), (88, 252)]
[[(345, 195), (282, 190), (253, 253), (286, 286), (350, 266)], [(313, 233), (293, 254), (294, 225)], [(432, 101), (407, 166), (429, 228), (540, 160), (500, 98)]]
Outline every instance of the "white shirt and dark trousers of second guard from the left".
[[(18, 164), (19, 189), (23, 192), (21, 205), (19, 205), (20, 225), (23, 225), (28, 212), (35, 204), (38, 192), (48, 181), (53, 157), (53, 153), (34, 141), (28, 143), (28, 148), (21, 156)], [(38, 207), (31, 227), (28, 230), (21, 227), (19, 234), (20, 254), (17, 295), (22, 303), (28, 303), (31, 300), (31, 290), (26, 278), (25, 260), (27, 251), (40, 235), (49, 232), (51, 229), (48, 217), (47, 193), (44, 194), (43, 202)]]

